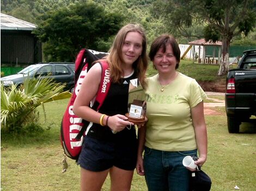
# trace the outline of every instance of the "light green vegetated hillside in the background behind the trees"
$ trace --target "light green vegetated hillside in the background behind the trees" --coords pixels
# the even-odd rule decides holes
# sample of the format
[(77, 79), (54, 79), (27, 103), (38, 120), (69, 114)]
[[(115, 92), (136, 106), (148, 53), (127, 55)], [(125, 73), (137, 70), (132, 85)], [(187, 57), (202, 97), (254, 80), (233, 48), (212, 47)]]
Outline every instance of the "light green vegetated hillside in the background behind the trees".
[[(143, 24), (144, 28), (147, 29), (149, 43), (155, 36), (161, 33), (171, 33), (179, 43), (184, 44), (203, 37), (201, 21), (194, 21), (190, 28), (184, 28), (182, 31), (175, 31), (175, 28), (173, 29), (167, 26), (160, 17), (159, 12), (157, 12), (160, 10), (159, 8), (156, 9), (156, 4), (159, 2), (156, 0), (3, 0), (1, 1), (1, 12), (27, 22), (39, 24), (42, 16), (48, 11), (58, 11), (72, 4), (84, 4), (86, 2), (95, 2), (107, 10), (118, 10), (118, 12), (125, 15), (125, 23), (139, 22)], [(231, 45), (233, 44), (256, 46), (255, 23), (254, 30), (247, 37), (244, 34), (235, 36), (231, 42)]]

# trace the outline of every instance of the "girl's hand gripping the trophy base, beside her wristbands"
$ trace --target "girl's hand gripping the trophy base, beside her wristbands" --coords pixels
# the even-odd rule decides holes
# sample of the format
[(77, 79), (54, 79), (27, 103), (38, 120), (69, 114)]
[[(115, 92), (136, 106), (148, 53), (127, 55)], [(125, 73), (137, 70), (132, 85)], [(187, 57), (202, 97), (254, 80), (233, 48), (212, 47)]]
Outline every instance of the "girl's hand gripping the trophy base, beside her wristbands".
[(114, 132), (119, 132), (124, 130), (126, 126), (130, 127), (134, 125), (133, 123), (127, 121), (127, 117), (123, 116), (122, 114), (116, 114), (108, 118), (108, 126)]

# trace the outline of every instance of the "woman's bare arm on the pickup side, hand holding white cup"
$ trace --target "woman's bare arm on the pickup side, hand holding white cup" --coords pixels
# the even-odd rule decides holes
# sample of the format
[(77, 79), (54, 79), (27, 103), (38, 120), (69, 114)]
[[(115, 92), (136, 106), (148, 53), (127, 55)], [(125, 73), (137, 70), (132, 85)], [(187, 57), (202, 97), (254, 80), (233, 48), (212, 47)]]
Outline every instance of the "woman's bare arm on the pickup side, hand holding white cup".
[(202, 166), (207, 158), (207, 131), (204, 120), (204, 103), (201, 101), (191, 109), (194, 132), (196, 134), (197, 149), (199, 152), (198, 161), (195, 163)]

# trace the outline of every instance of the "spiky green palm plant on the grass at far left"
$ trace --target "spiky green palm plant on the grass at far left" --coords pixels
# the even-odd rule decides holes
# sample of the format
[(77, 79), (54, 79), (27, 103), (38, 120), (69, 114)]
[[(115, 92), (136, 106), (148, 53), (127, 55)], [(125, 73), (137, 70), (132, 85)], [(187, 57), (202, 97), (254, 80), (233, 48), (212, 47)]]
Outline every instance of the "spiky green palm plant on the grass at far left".
[(1, 130), (19, 131), (23, 126), (36, 122), (36, 107), (70, 97), (63, 88), (64, 85), (54, 83), (51, 78), (25, 78), (21, 88), (16, 85), (4, 88), (1, 84)]

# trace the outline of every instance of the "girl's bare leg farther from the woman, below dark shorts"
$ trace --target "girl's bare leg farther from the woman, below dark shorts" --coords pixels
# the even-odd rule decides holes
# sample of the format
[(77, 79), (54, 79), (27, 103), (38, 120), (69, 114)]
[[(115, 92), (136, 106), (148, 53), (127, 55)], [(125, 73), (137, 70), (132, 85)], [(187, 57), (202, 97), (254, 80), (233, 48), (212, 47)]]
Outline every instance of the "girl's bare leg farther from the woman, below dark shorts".
[(100, 191), (108, 171), (94, 172), (81, 168), (81, 191)]

